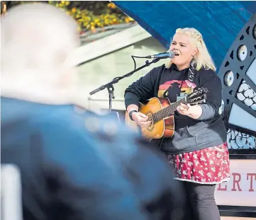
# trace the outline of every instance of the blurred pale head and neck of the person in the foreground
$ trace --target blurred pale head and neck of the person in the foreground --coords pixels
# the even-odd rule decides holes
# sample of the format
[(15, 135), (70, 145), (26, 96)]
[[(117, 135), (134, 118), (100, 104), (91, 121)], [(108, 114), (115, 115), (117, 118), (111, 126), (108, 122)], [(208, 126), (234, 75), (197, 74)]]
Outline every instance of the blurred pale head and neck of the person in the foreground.
[(77, 30), (72, 17), (49, 4), (11, 8), (1, 21), (1, 96), (40, 103), (73, 102)]

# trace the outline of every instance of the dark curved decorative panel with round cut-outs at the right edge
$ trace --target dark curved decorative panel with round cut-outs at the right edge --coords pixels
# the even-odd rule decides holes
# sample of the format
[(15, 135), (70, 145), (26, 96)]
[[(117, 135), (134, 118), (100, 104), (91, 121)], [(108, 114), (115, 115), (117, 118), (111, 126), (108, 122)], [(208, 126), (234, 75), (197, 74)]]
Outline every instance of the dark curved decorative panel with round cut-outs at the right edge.
[(256, 149), (255, 55), (256, 14), (240, 30), (218, 72), (229, 149)]

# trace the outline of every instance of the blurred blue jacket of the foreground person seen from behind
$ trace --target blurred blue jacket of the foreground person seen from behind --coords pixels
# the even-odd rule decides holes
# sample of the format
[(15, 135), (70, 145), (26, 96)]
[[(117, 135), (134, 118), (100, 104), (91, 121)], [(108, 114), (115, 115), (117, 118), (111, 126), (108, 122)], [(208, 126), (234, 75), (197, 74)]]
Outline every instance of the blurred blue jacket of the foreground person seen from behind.
[(182, 208), (165, 157), (111, 116), (73, 105), (1, 98), (1, 164), (10, 163), (26, 220), (169, 220)]

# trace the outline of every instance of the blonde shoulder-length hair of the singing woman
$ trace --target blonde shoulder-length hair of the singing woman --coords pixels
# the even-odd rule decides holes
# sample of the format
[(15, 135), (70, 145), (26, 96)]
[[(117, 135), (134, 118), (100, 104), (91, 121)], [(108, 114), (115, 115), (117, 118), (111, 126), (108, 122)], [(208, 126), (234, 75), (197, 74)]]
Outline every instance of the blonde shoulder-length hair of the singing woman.
[[(216, 66), (214, 65), (213, 59), (207, 50), (203, 36), (198, 30), (195, 28), (178, 28), (176, 33), (189, 36), (189, 42), (191, 45), (197, 47), (198, 52), (192, 59), (192, 65), (197, 71), (199, 71), (201, 67), (204, 67), (204, 69), (213, 69), (216, 71)], [(172, 61), (167, 63), (166, 67), (169, 68), (171, 65)]]

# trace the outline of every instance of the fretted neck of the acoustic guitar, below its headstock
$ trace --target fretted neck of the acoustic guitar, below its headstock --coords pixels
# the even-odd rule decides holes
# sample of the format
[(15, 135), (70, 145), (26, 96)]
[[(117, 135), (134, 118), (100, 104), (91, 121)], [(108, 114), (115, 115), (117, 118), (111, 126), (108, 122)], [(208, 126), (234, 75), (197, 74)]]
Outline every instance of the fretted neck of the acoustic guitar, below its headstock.
[(170, 115), (174, 114), (174, 112), (177, 110), (177, 107), (180, 105), (180, 103), (187, 104), (187, 99), (182, 98), (178, 100), (176, 103), (172, 103), (167, 108), (163, 108), (162, 110), (155, 112), (155, 114), (153, 115), (154, 123), (164, 119), (165, 117), (169, 117)]

